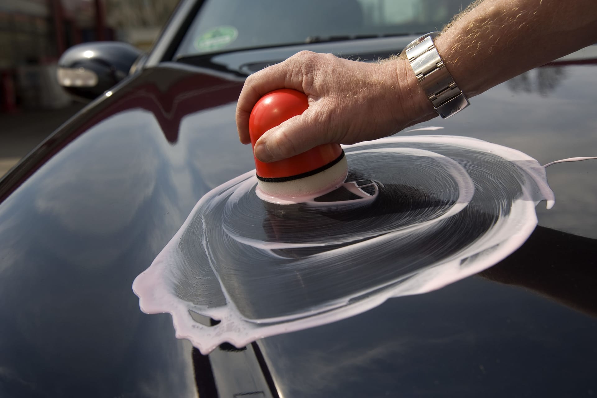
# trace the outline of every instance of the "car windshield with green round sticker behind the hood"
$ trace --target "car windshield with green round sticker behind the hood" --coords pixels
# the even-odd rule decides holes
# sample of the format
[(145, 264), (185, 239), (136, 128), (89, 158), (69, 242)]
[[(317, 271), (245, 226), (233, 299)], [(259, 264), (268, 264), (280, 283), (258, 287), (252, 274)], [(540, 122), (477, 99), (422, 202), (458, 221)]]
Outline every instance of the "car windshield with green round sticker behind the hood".
[(466, 0), (205, 0), (175, 55), (440, 30)]

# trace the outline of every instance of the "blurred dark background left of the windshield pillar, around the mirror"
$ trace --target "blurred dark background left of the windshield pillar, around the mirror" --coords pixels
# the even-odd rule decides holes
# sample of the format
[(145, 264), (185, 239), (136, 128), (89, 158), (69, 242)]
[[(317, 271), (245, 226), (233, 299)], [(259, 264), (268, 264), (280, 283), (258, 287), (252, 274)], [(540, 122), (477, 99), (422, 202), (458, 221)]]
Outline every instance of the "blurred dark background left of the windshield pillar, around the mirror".
[(125, 41), (147, 51), (179, 0), (1, 0), (0, 176), (83, 104), (57, 84), (72, 45)]

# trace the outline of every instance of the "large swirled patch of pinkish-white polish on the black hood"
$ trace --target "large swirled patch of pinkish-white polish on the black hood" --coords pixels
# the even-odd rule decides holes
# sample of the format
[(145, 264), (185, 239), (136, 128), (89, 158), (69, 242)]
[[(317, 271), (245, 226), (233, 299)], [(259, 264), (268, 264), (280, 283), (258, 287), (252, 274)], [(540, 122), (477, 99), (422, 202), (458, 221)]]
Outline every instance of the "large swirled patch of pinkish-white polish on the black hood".
[(484, 270), (533, 232), (538, 202), (553, 205), (536, 160), (485, 141), (419, 135), (344, 151), (348, 184), (325, 197), (264, 202), (254, 171), (207, 193), (135, 280), (141, 309), (172, 314), (202, 353), (242, 347)]

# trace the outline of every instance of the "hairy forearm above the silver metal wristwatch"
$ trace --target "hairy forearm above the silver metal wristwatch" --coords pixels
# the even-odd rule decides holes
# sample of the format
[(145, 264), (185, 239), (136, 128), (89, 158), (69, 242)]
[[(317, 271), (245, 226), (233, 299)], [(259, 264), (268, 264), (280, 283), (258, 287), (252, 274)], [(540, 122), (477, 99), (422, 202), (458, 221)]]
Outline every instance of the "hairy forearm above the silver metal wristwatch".
[(597, 42), (597, 0), (484, 0), (435, 45), (469, 97)]

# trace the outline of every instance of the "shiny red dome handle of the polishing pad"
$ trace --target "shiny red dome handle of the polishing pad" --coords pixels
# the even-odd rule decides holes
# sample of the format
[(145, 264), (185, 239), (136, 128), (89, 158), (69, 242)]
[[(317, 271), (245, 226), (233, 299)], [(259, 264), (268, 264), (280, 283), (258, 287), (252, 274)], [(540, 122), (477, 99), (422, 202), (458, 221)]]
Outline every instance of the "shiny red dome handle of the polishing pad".
[[(276, 127), (309, 107), (303, 92), (283, 88), (263, 95), (257, 101), (249, 118), (251, 146), (270, 128)], [(313, 171), (333, 162), (340, 156), (339, 144), (324, 144), (300, 153), (292, 158), (264, 163), (255, 158), (257, 175), (262, 178), (285, 178)]]

